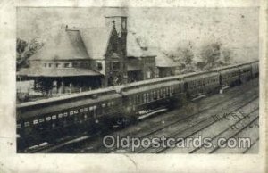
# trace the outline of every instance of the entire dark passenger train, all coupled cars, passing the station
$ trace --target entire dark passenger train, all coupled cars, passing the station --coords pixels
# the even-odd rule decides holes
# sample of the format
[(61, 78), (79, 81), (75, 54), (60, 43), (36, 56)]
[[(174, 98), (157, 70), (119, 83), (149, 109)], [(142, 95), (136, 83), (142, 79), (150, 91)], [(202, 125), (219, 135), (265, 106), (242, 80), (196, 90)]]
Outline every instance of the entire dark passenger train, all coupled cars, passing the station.
[(185, 99), (214, 93), (257, 76), (258, 62), (252, 62), (20, 103), (18, 144), (23, 147), (50, 136), (53, 140), (54, 134), (63, 136), (84, 128), (125, 126), (142, 116), (181, 105)]

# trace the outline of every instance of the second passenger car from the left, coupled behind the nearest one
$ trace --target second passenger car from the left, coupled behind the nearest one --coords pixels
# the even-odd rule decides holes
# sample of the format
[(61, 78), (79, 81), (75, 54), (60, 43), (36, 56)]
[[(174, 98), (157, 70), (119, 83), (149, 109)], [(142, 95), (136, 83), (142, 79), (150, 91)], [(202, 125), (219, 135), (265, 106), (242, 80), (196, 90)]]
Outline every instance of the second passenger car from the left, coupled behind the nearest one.
[(147, 116), (172, 108), (184, 98), (184, 83), (180, 77), (155, 78), (121, 87), (127, 117)]

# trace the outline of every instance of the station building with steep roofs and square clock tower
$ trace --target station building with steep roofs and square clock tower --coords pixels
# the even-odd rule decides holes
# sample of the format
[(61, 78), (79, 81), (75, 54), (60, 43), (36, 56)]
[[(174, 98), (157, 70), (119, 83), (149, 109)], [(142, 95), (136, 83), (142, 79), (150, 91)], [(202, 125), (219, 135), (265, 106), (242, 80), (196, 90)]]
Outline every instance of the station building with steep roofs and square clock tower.
[[(87, 91), (172, 75), (171, 62), (128, 31), (127, 16), (105, 16), (105, 28), (59, 27), (18, 77), (54, 94)], [(162, 57), (163, 58), (163, 57)]]

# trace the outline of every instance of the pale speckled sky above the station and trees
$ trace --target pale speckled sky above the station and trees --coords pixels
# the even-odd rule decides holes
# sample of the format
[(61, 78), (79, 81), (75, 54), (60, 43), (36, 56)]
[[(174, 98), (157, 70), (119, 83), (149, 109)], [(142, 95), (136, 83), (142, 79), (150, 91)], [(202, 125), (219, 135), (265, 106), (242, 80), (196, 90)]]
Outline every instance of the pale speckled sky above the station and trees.
[[(17, 37), (38, 38), (46, 43), (61, 25), (104, 27), (111, 8), (17, 8)], [(191, 42), (198, 52), (202, 45), (221, 42), (233, 50), (238, 62), (258, 58), (258, 12), (251, 8), (162, 7), (122, 9), (128, 29), (149, 46), (173, 51)]]

